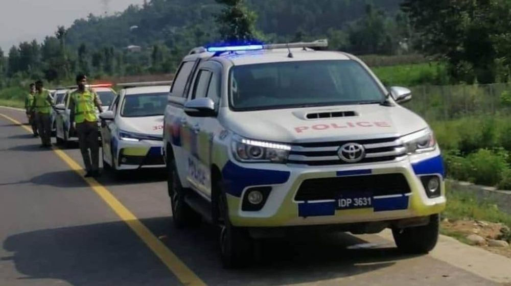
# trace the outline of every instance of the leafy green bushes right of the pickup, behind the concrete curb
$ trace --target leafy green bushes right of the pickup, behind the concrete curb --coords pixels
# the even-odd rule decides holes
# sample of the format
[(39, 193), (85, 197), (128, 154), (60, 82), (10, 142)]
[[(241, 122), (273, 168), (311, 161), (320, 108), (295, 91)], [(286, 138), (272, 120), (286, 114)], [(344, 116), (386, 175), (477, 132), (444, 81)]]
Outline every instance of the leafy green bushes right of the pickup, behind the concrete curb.
[(448, 176), (511, 189), (511, 117), (464, 117), (433, 122)]

